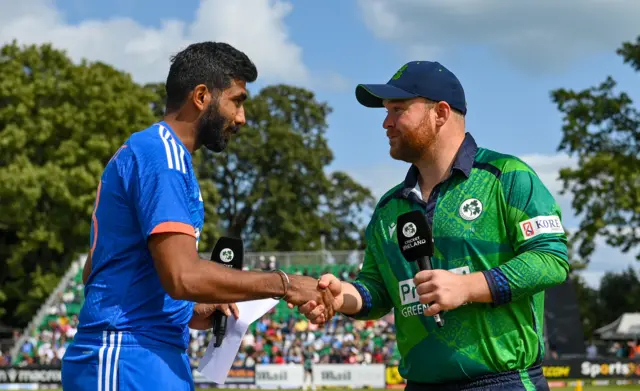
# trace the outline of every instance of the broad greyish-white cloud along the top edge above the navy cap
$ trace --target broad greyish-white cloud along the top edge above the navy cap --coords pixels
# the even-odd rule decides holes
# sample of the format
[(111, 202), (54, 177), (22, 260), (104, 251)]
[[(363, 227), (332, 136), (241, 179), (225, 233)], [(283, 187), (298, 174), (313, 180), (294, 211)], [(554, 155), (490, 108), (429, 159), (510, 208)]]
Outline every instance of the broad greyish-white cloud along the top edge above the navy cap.
[[(637, 0), (359, 0), (369, 29), (407, 55), (489, 47), (532, 73), (552, 72), (638, 34)], [(415, 60), (429, 58), (412, 58)]]

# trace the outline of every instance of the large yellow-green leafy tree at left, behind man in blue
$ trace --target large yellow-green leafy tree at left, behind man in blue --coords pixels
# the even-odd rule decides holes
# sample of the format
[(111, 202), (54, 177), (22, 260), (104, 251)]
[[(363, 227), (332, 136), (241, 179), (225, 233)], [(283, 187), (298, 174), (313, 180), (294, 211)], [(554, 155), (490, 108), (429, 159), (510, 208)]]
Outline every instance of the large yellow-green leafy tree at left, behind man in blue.
[[(0, 49), (0, 322), (25, 325), (88, 251), (102, 170), (157, 120), (159, 99), (109, 65), (74, 64), (50, 45)], [(217, 202), (210, 181), (201, 187)], [(207, 212), (208, 247), (217, 219)]]

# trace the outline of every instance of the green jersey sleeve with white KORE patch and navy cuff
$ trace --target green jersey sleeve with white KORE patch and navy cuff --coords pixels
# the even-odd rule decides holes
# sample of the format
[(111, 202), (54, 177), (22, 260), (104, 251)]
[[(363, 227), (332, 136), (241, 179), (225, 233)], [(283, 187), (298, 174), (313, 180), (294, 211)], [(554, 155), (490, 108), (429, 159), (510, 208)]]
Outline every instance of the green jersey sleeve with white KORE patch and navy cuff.
[(516, 256), (485, 271), (495, 306), (561, 284), (569, 272), (560, 207), (540, 178), (515, 160), (501, 177), (508, 241)]

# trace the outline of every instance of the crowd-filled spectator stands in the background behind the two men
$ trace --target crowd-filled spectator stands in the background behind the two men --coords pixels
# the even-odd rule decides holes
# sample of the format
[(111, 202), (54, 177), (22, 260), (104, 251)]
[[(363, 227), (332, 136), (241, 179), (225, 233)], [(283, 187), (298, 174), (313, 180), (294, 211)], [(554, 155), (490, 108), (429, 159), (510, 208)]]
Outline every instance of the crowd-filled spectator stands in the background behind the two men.
[[(344, 264), (304, 265), (283, 267), (283, 270), (313, 277), (328, 272), (341, 279), (351, 279), (355, 277), (358, 267)], [(84, 298), (83, 287), (82, 268), (79, 268), (47, 309), (42, 322), (20, 347), (13, 358), (14, 364), (60, 363), (66, 346), (76, 332)], [(198, 364), (210, 337), (210, 331), (191, 330), (189, 355), (193, 365)], [(235, 364), (250, 367), (256, 363), (299, 363), (302, 350), (308, 346), (314, 351), (317, 362), (393, 363), (399, 359), (392, 314), (375, 322), (353, 321), (336, 316), (328, 325), (318, 328), (309, 324), (297, 309), (289, 309), (285, 302), (280, 302), (265, 317), (251, 325)]]

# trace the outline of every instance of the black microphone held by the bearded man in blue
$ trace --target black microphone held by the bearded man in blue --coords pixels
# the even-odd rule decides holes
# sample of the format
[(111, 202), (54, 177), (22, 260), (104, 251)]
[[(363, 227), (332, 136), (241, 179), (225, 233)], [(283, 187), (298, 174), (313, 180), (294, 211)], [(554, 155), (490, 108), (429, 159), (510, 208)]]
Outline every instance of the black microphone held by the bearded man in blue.
[[(244, 247), (242, 239), (222, 236), (216, 242), (213, 251), (211, 251), (211, 261), (233, 269), (242, 270), (243, 259)], [(227, 315), (220, 310), (216, 310), (213, 314), (212, 323), (213, 337), (215, 338), (213, 346), (217, 348), (222, 345), (222, 340), (227, 331)]]

